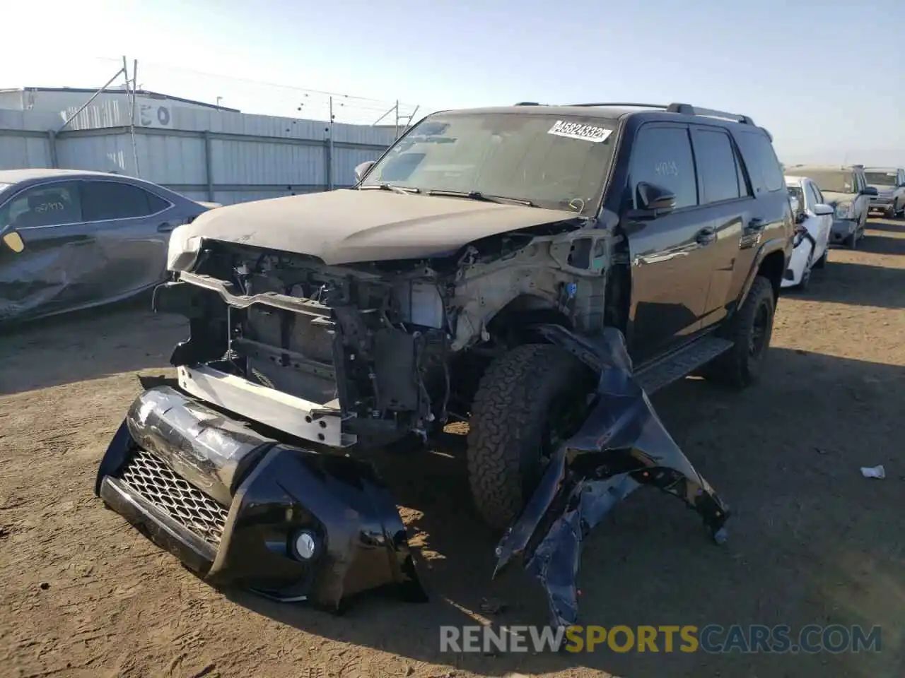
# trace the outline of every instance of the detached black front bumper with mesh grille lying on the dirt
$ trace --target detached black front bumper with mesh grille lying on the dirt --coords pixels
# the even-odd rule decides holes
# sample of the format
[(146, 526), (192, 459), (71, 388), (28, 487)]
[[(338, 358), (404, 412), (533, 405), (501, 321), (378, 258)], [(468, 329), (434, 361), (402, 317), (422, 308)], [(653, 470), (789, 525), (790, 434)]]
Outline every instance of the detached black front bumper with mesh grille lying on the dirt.
[[(281, 444), (168, 386), (135, 400), (95, 494), (214, 584), (334, 610), (387, 585), (426, 600), (372, 466)], [(293, 555), (300, 530), (315, 535), (310, 560)]]

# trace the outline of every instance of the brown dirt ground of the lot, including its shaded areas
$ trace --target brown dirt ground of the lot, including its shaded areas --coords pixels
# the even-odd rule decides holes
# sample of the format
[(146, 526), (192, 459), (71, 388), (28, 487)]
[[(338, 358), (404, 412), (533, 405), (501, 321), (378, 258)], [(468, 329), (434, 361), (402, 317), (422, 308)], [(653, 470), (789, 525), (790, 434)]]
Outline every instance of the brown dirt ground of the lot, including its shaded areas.
[[(633, 494), (589, 540), (585, 624), (882, 626), (879, 654), (444, 654), (440, 624), (483, 598), (544, 624), (539, 588), (490, 579), (495, 541), (462, 465), (380, 460), (432, 602), (345, 617), (209, 588), (91, 494), (140, 386), (186, 330), (147, 301), (0, 336), (0, 676), (905, 675), (905, 221), (872, 220), (812, 287), (781, 300), (767, 376), (686, 380), (654, 405), (735, 511), (712, 544), (672, 497)], [(860, 466), (882, 464), (884, 480)]]

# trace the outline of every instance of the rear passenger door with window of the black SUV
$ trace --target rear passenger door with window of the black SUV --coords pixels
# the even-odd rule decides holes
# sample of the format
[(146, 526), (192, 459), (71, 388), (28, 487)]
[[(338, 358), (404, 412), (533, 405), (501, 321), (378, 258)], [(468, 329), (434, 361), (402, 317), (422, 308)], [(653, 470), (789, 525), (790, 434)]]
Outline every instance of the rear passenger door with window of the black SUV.
[(710, 221), (710, 284), (702, 327), (718, 323), (734, 300), (739, 243), (745, 225), (754, 217), (754, 193), (738, 161), (738, 150), (723, 127), (691, 127), (694, 156), (701, 188), (701, 212)]

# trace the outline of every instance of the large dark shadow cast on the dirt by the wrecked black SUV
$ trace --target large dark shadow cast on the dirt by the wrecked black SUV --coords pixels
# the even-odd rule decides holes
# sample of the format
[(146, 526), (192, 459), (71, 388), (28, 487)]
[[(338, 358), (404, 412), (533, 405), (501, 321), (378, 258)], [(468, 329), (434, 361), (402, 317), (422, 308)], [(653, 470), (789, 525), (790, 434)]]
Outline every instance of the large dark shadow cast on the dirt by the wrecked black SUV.
[[(496, 537), (470, 507), (462, 462), (440, 454), (377, 460), (404, 507), (431, 602), (372, 597), (332, 617), (251, 594), (231, 598), (319, 636), (488, 675), (574, 666), (633, 678), (893, 674), (905, 658), (905, 464), (893, 435), (903, 400), (905, 368), (776, 348), (764, 381), (748, 391), (675, 384), (654, 406), (732, 507), (729, 543), (716, 546), (678, 500), (643, 488), (592, 533), (579, 575), (585, 625), (881, 625), (881, 654), (690, 654), (678, 642), (669, 653), (662, 641), (644, 654), (441, 653), (438, 626), (476, 624), (472, 611), (511, 626), (544, 625), (547, 609), (518, 568), (491, 582)], [(861, 476), (860, 466), (877, 464), (885, 481)]]

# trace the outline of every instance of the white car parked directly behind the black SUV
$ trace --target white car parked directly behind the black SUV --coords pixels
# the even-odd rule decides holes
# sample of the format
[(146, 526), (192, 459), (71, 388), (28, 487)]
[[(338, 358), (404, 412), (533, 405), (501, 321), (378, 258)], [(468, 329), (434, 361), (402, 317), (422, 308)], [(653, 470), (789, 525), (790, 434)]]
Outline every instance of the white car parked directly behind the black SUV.
[(833, 229), (832, 205), (824, 202), (814, 180), (786, 174), (786, 188), (795, 212), (795, 249), (783, 275), (782, 287), (805, 289), (813, 268), (824, 268)]

